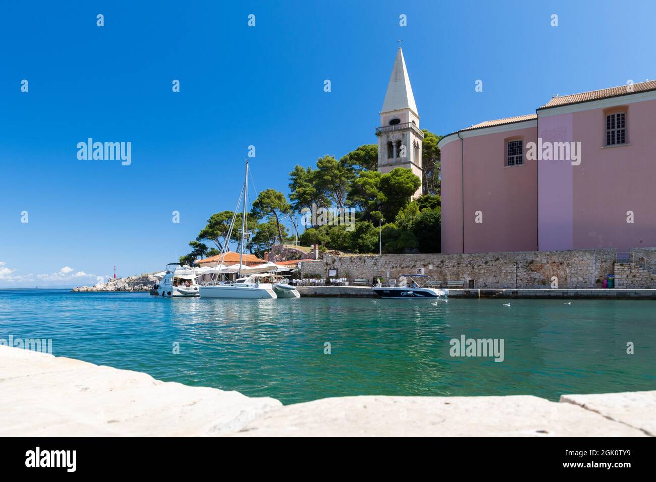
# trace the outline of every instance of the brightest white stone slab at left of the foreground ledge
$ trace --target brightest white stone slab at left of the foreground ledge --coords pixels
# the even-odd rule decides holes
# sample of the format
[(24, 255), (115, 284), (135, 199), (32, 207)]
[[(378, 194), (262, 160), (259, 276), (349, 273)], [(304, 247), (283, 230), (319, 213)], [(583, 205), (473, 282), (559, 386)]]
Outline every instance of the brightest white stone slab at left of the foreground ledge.
[(281, 403), (0, 346), (0, 435), (221, 435)]

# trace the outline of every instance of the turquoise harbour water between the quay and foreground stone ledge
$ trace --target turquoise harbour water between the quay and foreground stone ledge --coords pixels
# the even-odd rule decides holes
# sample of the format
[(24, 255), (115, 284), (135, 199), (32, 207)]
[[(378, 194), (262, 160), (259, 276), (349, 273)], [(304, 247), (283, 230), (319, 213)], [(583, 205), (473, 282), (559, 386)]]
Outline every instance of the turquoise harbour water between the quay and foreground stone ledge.
[[(0, 338), (52, 338), (57, 356), (285, 404), (343, 395), (557, 400), (656, 390), (656, 302), (506, 302), (0, 291)], [(504, 361), (451, 357), (449, 340), (462, 334), (503, 338)]]

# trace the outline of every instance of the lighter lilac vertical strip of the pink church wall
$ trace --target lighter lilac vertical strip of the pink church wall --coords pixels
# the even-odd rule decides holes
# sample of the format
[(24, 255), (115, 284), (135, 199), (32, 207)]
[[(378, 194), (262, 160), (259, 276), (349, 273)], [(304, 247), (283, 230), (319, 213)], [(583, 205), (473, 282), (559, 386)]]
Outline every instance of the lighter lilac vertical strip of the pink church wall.
[[(539, 138), (543, 142), (571, 142), (572, 114), (540, 117)], [(538, 161), (540, 251), (573, 249), (571, 161)]]

